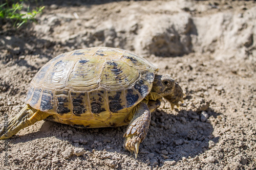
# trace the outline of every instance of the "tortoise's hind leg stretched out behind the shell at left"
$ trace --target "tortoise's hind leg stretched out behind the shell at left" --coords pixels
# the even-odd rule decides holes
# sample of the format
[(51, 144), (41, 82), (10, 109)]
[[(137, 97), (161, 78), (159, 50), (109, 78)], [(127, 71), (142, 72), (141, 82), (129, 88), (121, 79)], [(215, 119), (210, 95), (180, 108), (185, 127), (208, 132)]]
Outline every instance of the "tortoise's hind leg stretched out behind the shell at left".
[(8, 139), (18, 133), (19, 130), (33, 125), (37, 121), (45, 119), (50, 115), (51, 114), (36, 110), (27, 104), (10, 121), (4, 123), (4, 126), (0, 130), (0, 139)]

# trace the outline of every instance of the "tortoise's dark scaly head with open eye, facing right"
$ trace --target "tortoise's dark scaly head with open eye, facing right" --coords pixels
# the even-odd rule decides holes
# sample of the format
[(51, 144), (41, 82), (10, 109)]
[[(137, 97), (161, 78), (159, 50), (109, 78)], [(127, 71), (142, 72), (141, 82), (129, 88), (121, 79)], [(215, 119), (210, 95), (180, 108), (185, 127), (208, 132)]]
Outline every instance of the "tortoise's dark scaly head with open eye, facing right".
[(172, 109), (175, 105), (179, 107), (179, 102), (183, 103), (182, 88), (173, 78), (167, 75), (156, 75), (151, 91), (163, 96), (164, 99), (170, 102)]

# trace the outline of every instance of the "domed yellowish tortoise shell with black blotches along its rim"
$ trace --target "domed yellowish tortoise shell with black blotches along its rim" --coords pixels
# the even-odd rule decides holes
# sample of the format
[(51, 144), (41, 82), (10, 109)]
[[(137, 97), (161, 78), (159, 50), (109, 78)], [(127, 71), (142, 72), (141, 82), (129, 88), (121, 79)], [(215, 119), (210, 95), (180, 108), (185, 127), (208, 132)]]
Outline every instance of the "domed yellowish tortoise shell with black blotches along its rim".
[(60, 54), (33, 78), (25, 102), (53, 114), (55, 122), (80, 128), (129, 124), (134, 106), (150, 93), (157, 67), (111, 47)]

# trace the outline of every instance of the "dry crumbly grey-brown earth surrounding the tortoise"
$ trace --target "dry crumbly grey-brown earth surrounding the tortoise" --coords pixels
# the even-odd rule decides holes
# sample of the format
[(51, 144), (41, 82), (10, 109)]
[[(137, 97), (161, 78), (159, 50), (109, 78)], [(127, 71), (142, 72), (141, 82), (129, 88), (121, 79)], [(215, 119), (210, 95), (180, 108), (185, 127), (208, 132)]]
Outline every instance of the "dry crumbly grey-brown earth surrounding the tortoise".
[[(92, 3), (93, 2), (93, 3)], [(60, 53), (113, 46), (142, 55), (186, 93), (152, 114), (137, 159), (126, 127), (76, 129), (42, 120), (0, 141), (0, 169), (256, 169), (253, 1), (44, 1), (38, 23), (0, 28), (0, 121)], [(8, 164), (5, 166), (5, 164)]]

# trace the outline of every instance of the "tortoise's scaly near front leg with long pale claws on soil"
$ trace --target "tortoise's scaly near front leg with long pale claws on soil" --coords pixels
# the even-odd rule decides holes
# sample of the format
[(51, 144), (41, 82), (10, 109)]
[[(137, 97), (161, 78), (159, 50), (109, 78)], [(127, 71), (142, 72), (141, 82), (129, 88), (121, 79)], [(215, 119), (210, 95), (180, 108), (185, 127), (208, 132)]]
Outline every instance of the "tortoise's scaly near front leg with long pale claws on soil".
[(147, 104), (143, 102), (139, 103), (134, 109), (133, 119), (123, 135), (125, 137), (123, 147), (131, 154), (134, 152), (135, 158), (137, 158), (139, 145), (146, 137), (150, 126), (151, 112)]

